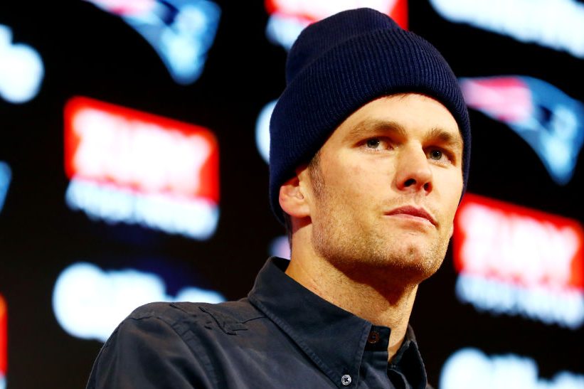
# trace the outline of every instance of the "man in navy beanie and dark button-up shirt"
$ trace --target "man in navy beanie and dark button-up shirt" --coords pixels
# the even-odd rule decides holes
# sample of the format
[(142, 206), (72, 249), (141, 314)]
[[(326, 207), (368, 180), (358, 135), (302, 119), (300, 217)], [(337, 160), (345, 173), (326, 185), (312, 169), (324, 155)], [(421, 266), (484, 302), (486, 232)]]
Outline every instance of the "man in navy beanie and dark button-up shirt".
[(124, 320), (88, 388), (425, 388), (408, 326), (440, 267), (469, 166), (457, 79), (371, 9), (306, 28), (270, 124), (270, 201), (290, 262), (248, 298)]

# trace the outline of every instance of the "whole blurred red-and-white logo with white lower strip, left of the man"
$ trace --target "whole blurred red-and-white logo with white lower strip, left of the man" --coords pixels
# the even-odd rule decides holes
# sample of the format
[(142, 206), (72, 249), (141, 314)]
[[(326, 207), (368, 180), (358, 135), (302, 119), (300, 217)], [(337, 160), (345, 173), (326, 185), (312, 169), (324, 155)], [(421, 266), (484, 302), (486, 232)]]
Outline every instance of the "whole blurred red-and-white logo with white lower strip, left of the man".
[(218, 221), (218, 161), (206, 128), (86, 97), (65, 106), (65, 199), (92, 218), (207, 239)]

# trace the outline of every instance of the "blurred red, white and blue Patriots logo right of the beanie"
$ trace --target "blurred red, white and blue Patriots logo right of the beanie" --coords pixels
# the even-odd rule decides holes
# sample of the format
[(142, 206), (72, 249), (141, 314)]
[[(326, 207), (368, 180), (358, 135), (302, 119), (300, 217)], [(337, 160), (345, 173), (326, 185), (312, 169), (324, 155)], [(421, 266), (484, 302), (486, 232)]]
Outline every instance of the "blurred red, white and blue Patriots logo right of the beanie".
[(574, 174), (584, 142), (584, 105), (526, 76), (461, 78), (467, 105), (505, 123), (531, 146), (558, 185)]

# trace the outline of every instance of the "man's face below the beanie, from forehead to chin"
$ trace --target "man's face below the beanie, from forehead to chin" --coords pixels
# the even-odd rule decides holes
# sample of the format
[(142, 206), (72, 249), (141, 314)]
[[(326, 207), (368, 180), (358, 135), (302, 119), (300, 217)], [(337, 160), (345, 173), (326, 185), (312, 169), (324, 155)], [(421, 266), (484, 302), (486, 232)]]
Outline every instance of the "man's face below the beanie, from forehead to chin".
[[(333, 265), (403, 282), (440, 267), (462, 193), (462, 137), (440, 102), (418, 94), (369, 102), (303, 174), (312, 244)], [(381, 269), (396, 271), (371, 272)]]

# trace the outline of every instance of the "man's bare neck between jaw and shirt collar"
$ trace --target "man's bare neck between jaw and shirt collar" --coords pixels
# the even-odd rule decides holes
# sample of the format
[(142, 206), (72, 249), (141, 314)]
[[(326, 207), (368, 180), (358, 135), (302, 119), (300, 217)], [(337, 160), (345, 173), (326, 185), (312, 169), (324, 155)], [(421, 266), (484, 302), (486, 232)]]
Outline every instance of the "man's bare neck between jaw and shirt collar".
[(329, 260), (309, 254), (313, 253), (293, 250), (286, 274), (331, 304), (372, 324), (389, 327), (388, 360), (391, 360), (408, 329), (418, 285), (376, 282), (376, 279), (383, 279), (383, 275), (369, 277), (371, 282), (361, 282), (356, 280), (359, 277), (347, 275)]

